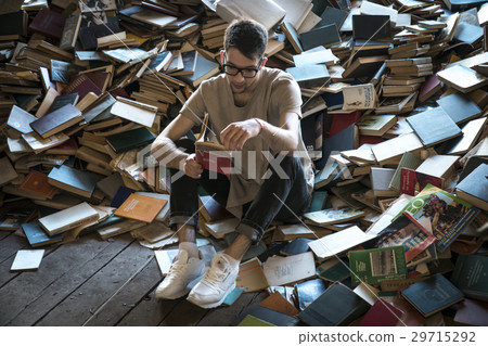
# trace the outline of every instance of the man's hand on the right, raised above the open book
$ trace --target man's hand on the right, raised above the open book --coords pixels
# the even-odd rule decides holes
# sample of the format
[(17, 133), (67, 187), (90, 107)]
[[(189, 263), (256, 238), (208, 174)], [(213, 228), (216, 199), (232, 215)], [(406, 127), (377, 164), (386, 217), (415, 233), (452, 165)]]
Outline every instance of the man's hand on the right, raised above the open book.
[(261, 127), (255, 119), (232, 123), (220, 132), (220, 141), (226, 150), (242, 150), (244, 143), (260, 131)]

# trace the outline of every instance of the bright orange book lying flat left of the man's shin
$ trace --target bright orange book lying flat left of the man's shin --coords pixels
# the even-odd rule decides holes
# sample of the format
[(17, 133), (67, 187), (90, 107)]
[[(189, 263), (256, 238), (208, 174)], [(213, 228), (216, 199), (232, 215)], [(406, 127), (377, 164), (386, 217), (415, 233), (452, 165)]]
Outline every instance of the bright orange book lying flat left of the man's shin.
[(131, 193), (114, 215), (150, 223), (167, 202)]

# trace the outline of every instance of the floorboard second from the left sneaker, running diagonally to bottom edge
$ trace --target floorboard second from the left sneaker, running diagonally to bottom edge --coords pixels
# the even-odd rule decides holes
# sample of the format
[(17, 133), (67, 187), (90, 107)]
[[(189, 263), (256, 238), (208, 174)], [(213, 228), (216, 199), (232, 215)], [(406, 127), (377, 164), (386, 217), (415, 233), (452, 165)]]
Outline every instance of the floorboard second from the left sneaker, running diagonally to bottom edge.
[(145, 248), (132, 242), (36, 325), (84, 325), (146, 261)]

